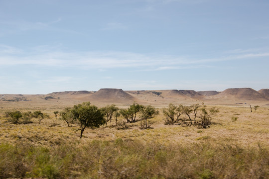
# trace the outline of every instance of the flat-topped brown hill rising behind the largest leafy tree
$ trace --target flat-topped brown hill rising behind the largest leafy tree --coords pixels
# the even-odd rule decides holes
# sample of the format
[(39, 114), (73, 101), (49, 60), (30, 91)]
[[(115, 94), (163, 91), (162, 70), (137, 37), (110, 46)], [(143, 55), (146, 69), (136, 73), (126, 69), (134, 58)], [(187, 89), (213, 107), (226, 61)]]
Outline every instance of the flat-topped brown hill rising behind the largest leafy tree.
[(133, 102), (135, 97), (123, 89), (99, 89), (90, 96), (93, 101), (102, 102)]

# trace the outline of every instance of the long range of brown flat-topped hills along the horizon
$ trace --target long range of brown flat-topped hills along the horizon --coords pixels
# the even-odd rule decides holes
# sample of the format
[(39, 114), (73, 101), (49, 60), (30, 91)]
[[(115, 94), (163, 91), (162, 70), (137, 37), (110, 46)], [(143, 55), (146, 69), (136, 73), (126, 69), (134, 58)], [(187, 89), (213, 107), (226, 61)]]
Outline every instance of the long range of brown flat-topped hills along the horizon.
[[(25, 104), (41, 105), (73, 105), (84, 101), (91, 101), (103, 105), (117, 103), (130, 105), (134, 101), (142, 104), (165, 106), (169, 103), (191, 105), (193, 103), (208, 104), (244, 104), (269, 103), (269, 89), (256, 91), (251, 88), (226, 89), (218, 91), (195, 91), (195, 90), (123, 90), (123, 89), (100, 89), (98, 91), (62, 91), (49, 94), (0, 94), (0, 102), (17, 102), (16, 105)], [(27, 102), (27, 103), (26, 103)], [(12, 105), (15, 105), (13, 103)]]

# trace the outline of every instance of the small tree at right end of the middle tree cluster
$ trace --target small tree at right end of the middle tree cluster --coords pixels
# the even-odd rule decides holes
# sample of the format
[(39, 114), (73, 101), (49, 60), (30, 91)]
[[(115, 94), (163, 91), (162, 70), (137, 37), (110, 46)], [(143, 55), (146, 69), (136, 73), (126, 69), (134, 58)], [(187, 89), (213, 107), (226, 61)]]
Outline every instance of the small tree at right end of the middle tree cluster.
[(142, 128), (149, 128), (152, 123), (150, 121), (147, 121), (147, 119), (151, 119), (158, 114), (159, 114), (159, 111), (151, 105), (147, 105), (145, 107), (142, 107), (140, 117), (142, 119), (144, 119), (144, 121), (143, 121), (143, 123), (141, 121), (141, 127)]

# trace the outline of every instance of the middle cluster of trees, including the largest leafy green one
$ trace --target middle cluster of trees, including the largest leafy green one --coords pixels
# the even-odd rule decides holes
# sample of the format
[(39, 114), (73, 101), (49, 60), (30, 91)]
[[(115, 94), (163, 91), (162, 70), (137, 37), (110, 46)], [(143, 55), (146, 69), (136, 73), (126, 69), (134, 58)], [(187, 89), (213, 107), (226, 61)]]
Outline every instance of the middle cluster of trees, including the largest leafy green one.
[[(72, 108), (66, 107), (60, 112), (54, 111), (55, 117), (59, 114), (59, 119), (64, 120), (68, 127), (70, 127), (70, 124), (79, 124), (80, 138), (87, 127), (98, 128), (101, 125), (107, 125), (109, 121), (112, 121), (113, 116), (116, 126), (127, 128), (126, 123), (135, 122), (138, 113), (143, 120), (141, 121), (141, 127), (149, 128), (152, 122), (148, 119), (158, 115), (159, 111), (151, 105), (143, 106), (135, 102), (128, 109), (119, 109), (115, 104), (98, 108), (90, 102), (83, 102), (74, 105)], [(127, 120), (126, 122), (118, 122), (118, 117), (121, 115)]]

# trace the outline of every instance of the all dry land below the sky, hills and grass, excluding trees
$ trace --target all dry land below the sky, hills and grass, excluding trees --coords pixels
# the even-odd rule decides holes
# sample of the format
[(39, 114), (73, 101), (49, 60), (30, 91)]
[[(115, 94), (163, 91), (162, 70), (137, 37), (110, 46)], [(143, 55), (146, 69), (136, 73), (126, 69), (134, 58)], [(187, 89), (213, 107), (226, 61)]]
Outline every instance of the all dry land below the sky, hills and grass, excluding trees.
[[(123, 109), (136, 102), (160, 113), (148, 129), (140, 128), (138, 113), (127, 129), (119, 129), (113, 117), (107, 126), (87, 128), (80, 139), (78, 124), (67, 127), (53, 112), (85, 101)], [(204, 103), (219, 112), (208, 128), (190, 125), (184, 114), (174, 125), (164, 125), (163, 108), (169, 103)], [(49, 118), (41, 124), (35, 118), (29, 124), (11, 124), (4, 116), (11, 110), (41, 110)], [(0, 178), (268, 179), (269, 89), (1, 94), (0, 143)]]

